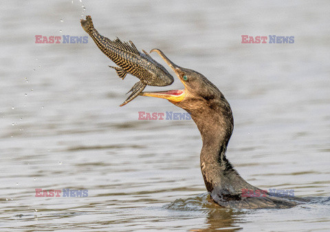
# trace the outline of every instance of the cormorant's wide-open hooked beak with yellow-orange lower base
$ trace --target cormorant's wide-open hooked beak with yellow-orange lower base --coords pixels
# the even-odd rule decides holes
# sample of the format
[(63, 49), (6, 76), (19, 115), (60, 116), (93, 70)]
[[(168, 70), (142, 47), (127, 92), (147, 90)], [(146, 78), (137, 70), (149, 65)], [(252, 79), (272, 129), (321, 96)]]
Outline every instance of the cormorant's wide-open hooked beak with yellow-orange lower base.
[[(162, 59), (172, 68), (172, 70), (177, 74), (180, 81), (184, 84), (186, 87), (186, 84), (182, 80), (182, 76), (184, 76), (184, 73), (181, 71), (181, 68), (172, 61), (170, 61), (164, 53), (159, 49), (153, 49), (151, 52), (157, 52), (159, 56), (162, 57)], [(160, 92), (142, 92), (140, 93), (141, 96), (153, 96), (155, 98), (165, 98), (171, 103), (179, 103), (180, 101), (184, 100), (186, 96), (186, 89), (175, 89), (175, 90), (168, 90), (168, 91), (160, 91)]]

